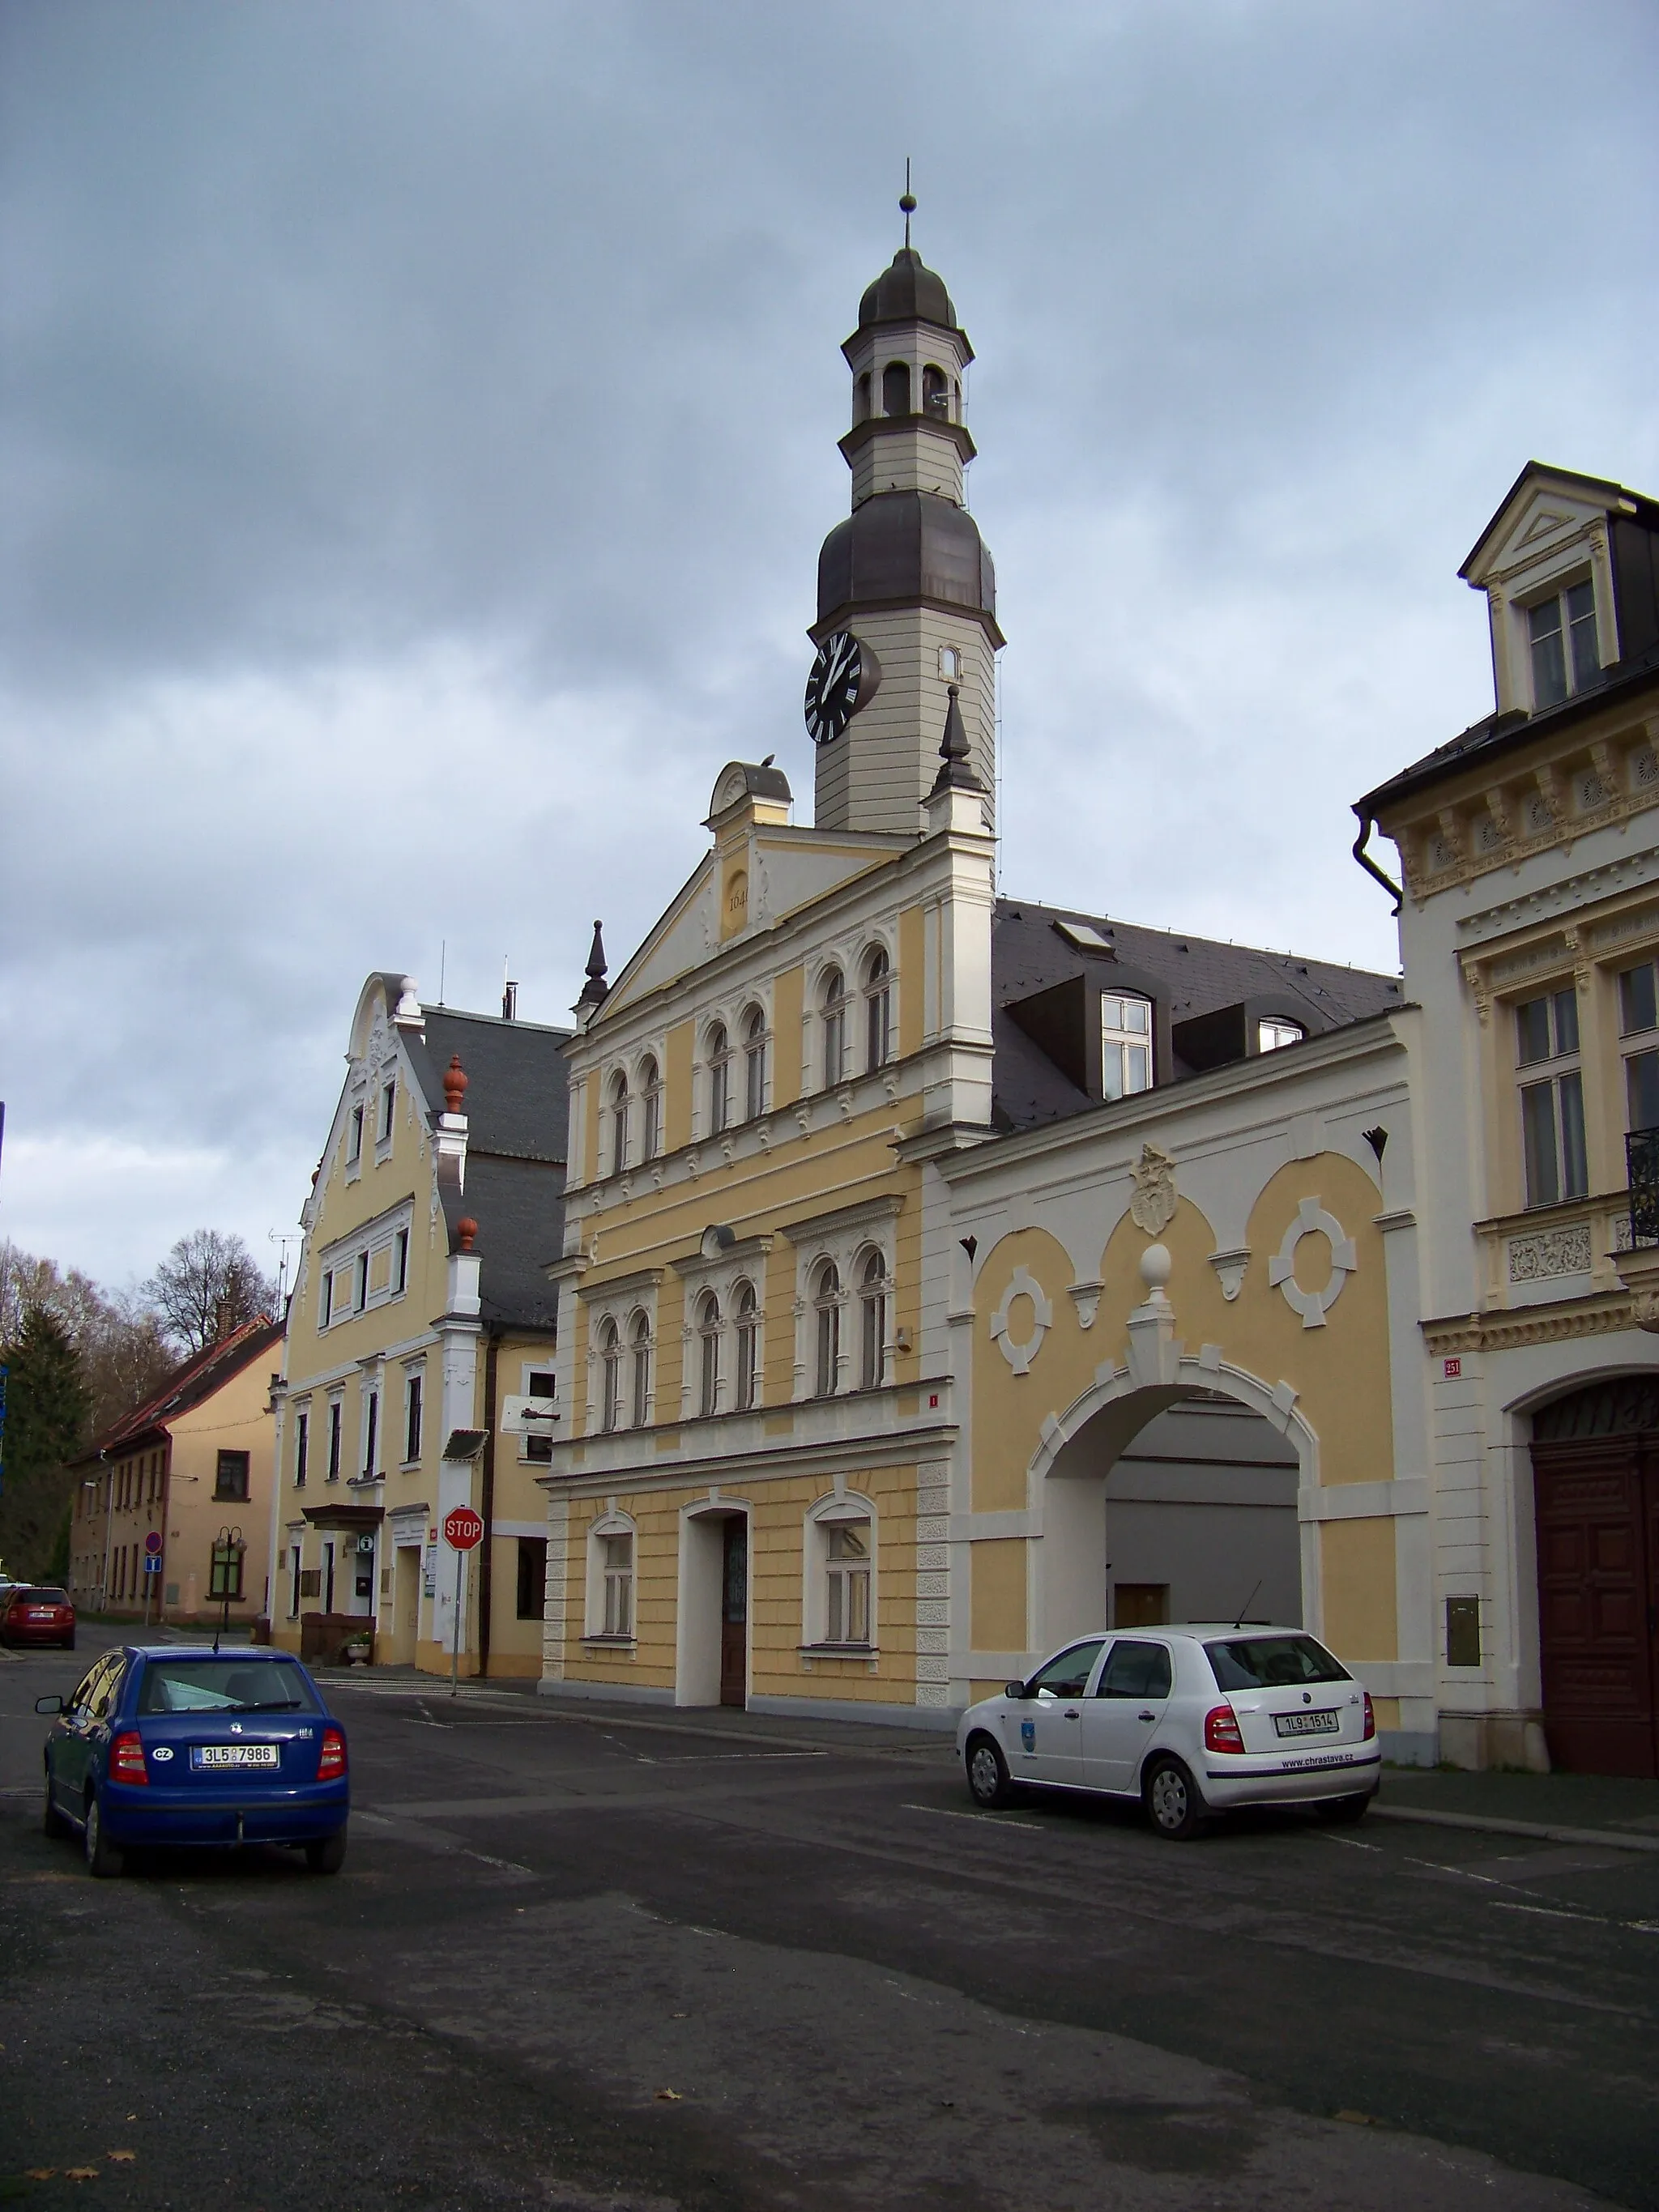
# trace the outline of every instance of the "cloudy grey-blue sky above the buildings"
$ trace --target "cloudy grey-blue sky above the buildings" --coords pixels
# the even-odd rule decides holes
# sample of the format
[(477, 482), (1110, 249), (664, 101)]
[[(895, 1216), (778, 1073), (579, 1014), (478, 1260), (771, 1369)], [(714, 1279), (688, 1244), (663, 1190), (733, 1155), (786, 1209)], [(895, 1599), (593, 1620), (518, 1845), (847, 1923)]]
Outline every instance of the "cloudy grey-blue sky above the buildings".
[(1002, 885), (1396, 967), (1531, 456), (1659, 493), (1652, 0), (2, 0), (0, 1234), (263, 1256), (369, 969), (568, 1020), (801, 726), (841, 338), (978, 363)]

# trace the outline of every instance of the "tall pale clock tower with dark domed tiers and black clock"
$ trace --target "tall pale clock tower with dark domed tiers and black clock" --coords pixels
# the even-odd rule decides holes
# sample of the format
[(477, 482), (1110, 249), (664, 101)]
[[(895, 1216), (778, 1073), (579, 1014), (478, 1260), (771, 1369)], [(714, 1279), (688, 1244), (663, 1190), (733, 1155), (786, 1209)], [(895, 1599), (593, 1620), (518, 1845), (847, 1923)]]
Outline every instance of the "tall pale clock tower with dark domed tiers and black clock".
[(995, 573), (964, 504), (973, 440), (962, 376), (973, 361), (951, 294), (905, 243), (858, 303), (841, 352), (852, 372), (852, 515), (818, 553), (818, 657), (807, 732), (821, 830), (918, 836), (940, 734), (958, 692), (969, 765), (995, 803)]

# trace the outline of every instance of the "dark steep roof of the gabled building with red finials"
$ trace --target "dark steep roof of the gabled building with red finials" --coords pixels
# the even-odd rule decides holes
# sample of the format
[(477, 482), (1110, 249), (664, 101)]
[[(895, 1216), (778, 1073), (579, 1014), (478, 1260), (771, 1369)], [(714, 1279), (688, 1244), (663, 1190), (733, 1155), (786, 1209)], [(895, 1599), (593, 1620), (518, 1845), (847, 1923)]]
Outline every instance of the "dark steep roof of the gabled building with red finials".
[(491, 1013), (427, 1006), (427, 1035), (409, 1037), (409, 1060), (427, 1106), (445, 1110), (442, 1071), (451, 1055), (467, 1071), (467, 1188), (440, 1183), (449, 1245), (456, 1223), (478, 1223), (473, 1252), (487, 1323), (551, 1329), (557, 1294), (542, 1274), (564, 1250), (564, 1164), (571, 1126), (568, 1066), (573, 1031), (507, 1022)]

